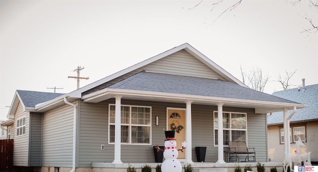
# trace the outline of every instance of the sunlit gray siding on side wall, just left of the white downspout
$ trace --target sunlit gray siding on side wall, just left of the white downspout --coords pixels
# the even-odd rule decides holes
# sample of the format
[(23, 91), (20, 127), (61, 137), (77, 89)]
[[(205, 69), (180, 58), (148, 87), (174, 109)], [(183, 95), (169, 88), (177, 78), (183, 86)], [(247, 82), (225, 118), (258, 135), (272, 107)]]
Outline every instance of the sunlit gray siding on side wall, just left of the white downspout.
[(69, 105), (43, 115), (43, 167), (72, 167), (73, 115)]

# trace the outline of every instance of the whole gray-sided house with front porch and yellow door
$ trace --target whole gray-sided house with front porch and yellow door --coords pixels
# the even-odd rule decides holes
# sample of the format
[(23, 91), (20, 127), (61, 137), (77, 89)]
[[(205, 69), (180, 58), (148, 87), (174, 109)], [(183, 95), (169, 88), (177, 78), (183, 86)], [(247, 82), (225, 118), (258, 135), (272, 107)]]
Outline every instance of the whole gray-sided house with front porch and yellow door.
[(64, 171), (154, 163), (171, 123), (184, 126), (175, 136), (178, 148), (187, 142), (181, 162), (196, 162), (195, 147), (205, 146), (205, 162), (225, 163), (231, 140), (266, 162), (266, 113), (306, 107), (249, 89), (187, 43), (51, 100), (28, 92), (26, 104), (20, 92), (8, 114), (14, 165)]

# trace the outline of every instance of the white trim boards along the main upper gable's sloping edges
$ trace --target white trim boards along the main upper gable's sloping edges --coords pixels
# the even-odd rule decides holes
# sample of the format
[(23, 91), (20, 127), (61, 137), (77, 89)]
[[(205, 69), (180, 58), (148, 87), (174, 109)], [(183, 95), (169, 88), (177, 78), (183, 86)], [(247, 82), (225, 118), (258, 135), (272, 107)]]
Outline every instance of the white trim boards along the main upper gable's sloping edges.
[(133, 66), (130, 66), (128, 68), (125, 68), (119, 72), (116, 72), (112, 75), (109, 75), (105, 78), (102, 78), (96, 82), (93, 82), (89, 85), (86, 85), (82, 88), (79, 88), (78, 90), (75, 90), (73, 92), (70, 93), (70, 96), (73, 97), (73, 98), (80, 98), (81, 97), (81, 93), (87, 91), (87, 90), (90, 90), (98, 85), (101, 85), (105, 82), (108, 82), (112, 79), (115, 79), (119, 76), (122, 76), (124, 74), (127, 74), (133, 70), (136, 70), (142, 66), (145, 66), (147, 64), (150, 64), (154, 61), (157, 61), (163, 57), (166, 57), (166, 56), (169, 56), (173, 53), (176, 53), (180, 50), (185, 50), (186, 52), (188, 52), (189, 54), (191, 54), (193, 57), (196, 57), (198, 60), (200, 60), (201, 62), (203, 62), (204, 64), (206, 64), (207, 66), (209, 66), (211, 69), (213, 69), (215, 72), (217, 72), (218, 74), (220, 74), (221, 76), (223, 76), (224, 78), (226, 78), (227, 80), (229, 81), (232, 81), (234, 83), (237, 83), (243, 87), (247, 87), (244, 83), (242, 83), (241, 81), (239, 81), (239, 79), (237, 79), (236, 77), (234, 77), (233, 75), (231, 75), (229, 72), (227, 72), (226, 70), (224, 70), (222, 67), (220, 67), (218, 64), (216, 64), (215, 62), (213, 62), (210, 58), (204, 56), (202, 53), (200, 53), (198, 50), (196, 50), (195, 48), (193, 48), (191, 45), (189, 45), (188, 43), (184, 43), (178, 47), (175, 47), (173, 49), (170, 49), (166, 52), (163, 52), (155, 57), (151, 57), (151, 58), (148, 58), (140, 63), (137, 63)]

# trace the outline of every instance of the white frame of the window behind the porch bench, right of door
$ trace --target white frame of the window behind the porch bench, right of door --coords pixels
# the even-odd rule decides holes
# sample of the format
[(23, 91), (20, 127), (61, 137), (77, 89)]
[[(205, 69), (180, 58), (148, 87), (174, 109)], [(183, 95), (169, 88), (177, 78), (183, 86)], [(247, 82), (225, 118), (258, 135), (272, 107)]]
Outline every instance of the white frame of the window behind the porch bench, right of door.
[[(213, 136), (214, 136), (214, 139), (213, 139), (213, 142), (214, 142), (214, 146), (218, 146), (218, 144), (216, 144), (216, 136), (215, 136), (215, 132), (216, 130), (218, 130), (218, 127), (216, 127), (215, 125), (215, 118), (217, 118), (217, 115), (218, 111), (213, 111)], [(230, 114), (230, 128), (224, 128), (223, 127), (223, 131), (224, 130), (228, 130), (230, 131), (229, 132), (229, 141), (232, 141), (232, 131), (245, 131), (245, 142), (247, 144), (247, 113), (241, 113), (241, 112), (225, 112), (223, 111), (223, 114)], [(242, 114), (242, 115), (245, 115), (245, 128), (243, 129), (239, 129), (239, 128), (232, 128), (232, 114)], [(223, 121), (222, 121), (222, 124), (223, 124)], [(224, 134), (224, 132), (223, 132)], [(226, 144), (223, 144), (223, 146), (225, 147), (228, 147), (229, 145), (226, 145)]]

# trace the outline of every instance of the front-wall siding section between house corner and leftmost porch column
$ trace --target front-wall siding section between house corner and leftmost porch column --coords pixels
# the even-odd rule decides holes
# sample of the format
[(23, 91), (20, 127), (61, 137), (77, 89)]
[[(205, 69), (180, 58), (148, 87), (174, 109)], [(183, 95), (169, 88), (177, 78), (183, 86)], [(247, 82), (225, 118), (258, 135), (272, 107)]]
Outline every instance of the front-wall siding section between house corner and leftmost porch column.
[[(92, 162), (111, 161), (113, 145), (109, 146), (108, 104), (79, 104), (79, 167), (90, 167)], [(105, 150), (100, 150), (105, 145)]]

